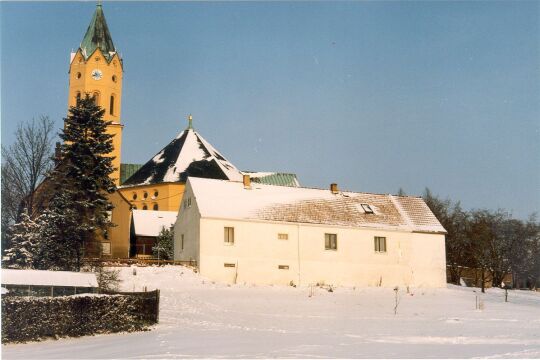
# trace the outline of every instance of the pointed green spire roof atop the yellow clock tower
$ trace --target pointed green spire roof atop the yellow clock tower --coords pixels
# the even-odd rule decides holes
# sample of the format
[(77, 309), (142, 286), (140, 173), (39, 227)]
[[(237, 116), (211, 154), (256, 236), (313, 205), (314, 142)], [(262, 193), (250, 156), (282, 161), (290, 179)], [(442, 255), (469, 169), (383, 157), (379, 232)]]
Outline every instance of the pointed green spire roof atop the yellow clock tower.
[(112, 57), (110, 53), (116, 52), (112, 42), (111, 33), (109, 32), (107, 22), (105, 21), (105, 15), (103, 15), (101, 2), (98, 2), (92, 21), (90, 21), (90, 25), (81, 42), (81, 51), (85, 58), (92, 55), (97, 48), (100, 48), (103, 55), (109, 60)]

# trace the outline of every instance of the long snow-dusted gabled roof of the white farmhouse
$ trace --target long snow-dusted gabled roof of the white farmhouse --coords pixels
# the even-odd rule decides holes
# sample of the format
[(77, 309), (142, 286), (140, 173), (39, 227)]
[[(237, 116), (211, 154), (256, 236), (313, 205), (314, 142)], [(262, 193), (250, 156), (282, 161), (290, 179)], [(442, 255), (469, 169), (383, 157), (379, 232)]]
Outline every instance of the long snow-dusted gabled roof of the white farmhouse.
[[(257, 219), (445, 233), (421, 198), (273, 186), (203, 178), (188, 180), (201, 217)], [(396, 204), (397, 203), (397, 204)], [(373, 213), (362, 204), (369, 205)]]

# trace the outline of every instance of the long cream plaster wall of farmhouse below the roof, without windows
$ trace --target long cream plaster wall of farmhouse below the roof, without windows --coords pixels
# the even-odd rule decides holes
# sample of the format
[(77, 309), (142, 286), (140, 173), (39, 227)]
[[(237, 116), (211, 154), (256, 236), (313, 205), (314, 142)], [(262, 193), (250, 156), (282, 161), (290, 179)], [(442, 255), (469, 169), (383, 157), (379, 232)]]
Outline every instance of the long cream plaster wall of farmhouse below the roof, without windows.
[[(217, 281), (446, 286), (444, 235), (221, 219), (201, 219), (200, 226), (200, 271)], [(234, 245), (224, 243), (225, 226), (235, 229)], [(325, 250), (325, 233), (337, 234), (336, 251)], [(375, 252), (375, 236), (386, 237), (386, 253)]]

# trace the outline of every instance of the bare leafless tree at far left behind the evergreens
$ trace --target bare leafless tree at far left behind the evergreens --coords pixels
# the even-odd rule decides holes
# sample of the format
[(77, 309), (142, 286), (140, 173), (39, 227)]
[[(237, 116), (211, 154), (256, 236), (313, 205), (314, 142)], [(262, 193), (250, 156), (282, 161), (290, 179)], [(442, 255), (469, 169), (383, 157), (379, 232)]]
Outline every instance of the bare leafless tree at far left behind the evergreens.
[(2, 226), (17, 221), (22, 208), (36, 216), (35, 190), (51, 169), (54, 136), (54, 122), (41, 116), (19, 124), (13, 144), (2, 146)]

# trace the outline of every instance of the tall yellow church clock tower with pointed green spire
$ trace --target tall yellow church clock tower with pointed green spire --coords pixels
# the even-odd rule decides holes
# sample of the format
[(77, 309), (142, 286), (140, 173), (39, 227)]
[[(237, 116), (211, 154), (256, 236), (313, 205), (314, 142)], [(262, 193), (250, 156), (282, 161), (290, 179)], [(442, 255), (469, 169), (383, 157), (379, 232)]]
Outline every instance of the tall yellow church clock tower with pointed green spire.
[(114, 47), (101, 2), (98, 2), (79, 49), (71, 53), (68, 106), (75, 106), (77, 99), (89, 94), (105, 110), (103, 119), (112, 122), (107, 131), (114, 135), (114, 149), (110, 155), (114, 156), (115, 171), (111, 177), (117, 186), (120, 184), (123, 128), (120, 121), (122, 75), (122, 59)]

